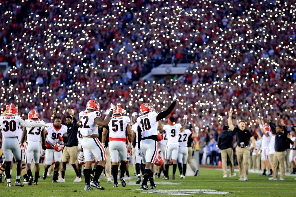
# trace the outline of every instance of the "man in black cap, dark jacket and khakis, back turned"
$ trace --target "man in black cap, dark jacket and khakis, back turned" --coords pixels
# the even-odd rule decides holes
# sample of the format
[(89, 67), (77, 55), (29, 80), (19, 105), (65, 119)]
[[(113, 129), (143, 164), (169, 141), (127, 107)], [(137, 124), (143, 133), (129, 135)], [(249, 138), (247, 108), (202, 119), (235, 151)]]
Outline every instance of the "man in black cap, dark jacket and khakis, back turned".
[(233, 166), (233, 136), (235, 133), (229, 131), (228, 125), (223, 125), (223, 132), (218, 136), (218, 147), (221, 149), (221, 158), (222, 158), (222, 169), (223, 169), (223, 178), (227, 177), (227, 159), (229, 160), (229, 177), (234, 177), (237, 174), (234, 173)]

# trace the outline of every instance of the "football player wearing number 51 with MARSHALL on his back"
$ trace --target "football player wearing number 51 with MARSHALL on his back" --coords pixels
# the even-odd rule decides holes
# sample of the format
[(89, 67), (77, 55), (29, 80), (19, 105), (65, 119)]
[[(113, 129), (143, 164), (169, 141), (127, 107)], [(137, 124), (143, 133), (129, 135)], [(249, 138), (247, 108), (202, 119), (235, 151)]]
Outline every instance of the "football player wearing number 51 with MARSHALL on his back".
[[(118, 172), (118, 157), (120, 158), (120, 177), (119, 180), (123, 187), (126, 186), (124, 180), (124, 172), (126, 171), (126, 157), (128, 156), (128, 150), (126, 147), (126, 133), (128, 135), (128, 141), (131, 143), (131, 126), (130, 118), (122, 115), (122, 109), (119, 105), (115, 106), (113, 110), (113, 116), (106, 128), (103, 128), (102, 133), (102, 145), (105, 146), (106, 136), (109, 132), (109, 153), (112, 162), (112, 172), (114, 184), (113, 187), (118, 187), (117, 173)], [(130, 144), (129, 149), (133, 146)]]

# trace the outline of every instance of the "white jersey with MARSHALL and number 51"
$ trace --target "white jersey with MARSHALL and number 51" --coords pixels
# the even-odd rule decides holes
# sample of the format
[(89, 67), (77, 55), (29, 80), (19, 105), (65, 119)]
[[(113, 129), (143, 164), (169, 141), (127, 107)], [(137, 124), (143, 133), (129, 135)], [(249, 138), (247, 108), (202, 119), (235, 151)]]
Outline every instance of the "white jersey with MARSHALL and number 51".
[(131, 122), (128, 116), (115, 117), (112, 116), (109, 127), (109, 137), (111, 138), (126, 138), (126, 126)]

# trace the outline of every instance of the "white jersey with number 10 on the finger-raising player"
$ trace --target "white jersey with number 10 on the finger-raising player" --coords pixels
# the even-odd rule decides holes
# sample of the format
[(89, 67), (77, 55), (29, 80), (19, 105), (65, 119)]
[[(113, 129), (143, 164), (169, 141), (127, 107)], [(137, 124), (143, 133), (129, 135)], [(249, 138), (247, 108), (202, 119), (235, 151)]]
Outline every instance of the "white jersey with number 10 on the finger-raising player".
[(142, 138), (157, 135), (157, 115), (158, 112), (153, 111), (137, 118), (137, 124), (141, 127)]

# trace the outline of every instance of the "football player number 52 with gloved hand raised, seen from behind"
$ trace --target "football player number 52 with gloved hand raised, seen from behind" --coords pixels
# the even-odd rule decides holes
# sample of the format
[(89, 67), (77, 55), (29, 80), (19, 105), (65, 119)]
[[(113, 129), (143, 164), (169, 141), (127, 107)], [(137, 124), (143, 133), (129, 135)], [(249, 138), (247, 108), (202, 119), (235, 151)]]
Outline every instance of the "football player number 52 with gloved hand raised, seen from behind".
[[(111, 103), (110, 112), (104, 120), (100, 118), (101, 113), (99, 112), (100, 106), (99, 103), (95, 100), (89, 100), (86, 104), (86, 111), (79, 113), (78, 125), (81, 127), (81, 146), (83, 152), (80, 155), (84, 154), (85, 165), (84, 165), (84, 178), (85, 178), (85, 190), (91, 190), (91, 186), (95, 188), (104, 190), (100, 183), (99, 178), (102, 174), (105, 164), (106, 164), (106, 148), (99, 141), (98, 126), (106, 127), (113, 115), (113, 110), (115, 106)], [(78, 156), (79, 157), (79, 156)], [(91, 176), (91, 163), (93, 157), (99, 161), (99, 164), (96, 167), (96, 172), (93, 180), (90, 182)]]

